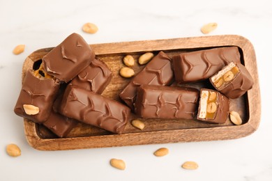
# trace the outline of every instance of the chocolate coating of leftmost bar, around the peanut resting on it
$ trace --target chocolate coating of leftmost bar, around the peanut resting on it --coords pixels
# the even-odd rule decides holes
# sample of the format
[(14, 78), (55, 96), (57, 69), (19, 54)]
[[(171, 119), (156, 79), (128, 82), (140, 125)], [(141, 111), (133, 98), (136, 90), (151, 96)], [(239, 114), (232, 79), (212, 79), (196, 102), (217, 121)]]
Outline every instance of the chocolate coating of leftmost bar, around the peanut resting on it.
[[(24, 79), (24, 84), (17, 103), (15, 113), (35, 123), (43, 123), (50, 116), (52, 104), (59, 90), (59, 82), (54, 79), (38, 79), (33, 75), (33, 70), (29, 70)], [(25, 113), (23, 105), (31, 104), (38, 107), (40, 111), (36, 115)]]

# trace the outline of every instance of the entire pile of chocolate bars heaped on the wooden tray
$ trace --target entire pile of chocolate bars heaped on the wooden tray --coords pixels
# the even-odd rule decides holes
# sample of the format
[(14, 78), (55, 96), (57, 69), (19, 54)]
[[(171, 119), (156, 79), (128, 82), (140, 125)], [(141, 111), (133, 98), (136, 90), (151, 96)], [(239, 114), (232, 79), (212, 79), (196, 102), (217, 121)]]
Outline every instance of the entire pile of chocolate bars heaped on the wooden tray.
[[(54, 47), (29, 70), (15, 105), (18, 116), (65, 137), (78, 121), (121, 134), (130, 111), (142, 118), (225, 123), (229, 99), (252, 88), (237, 47), (187, 52), (170, 58), (159, 52), (120, 94), (103, 95), (112, 72), (77, 33)], [(213, 89), (170, 86), (209, 79)]]

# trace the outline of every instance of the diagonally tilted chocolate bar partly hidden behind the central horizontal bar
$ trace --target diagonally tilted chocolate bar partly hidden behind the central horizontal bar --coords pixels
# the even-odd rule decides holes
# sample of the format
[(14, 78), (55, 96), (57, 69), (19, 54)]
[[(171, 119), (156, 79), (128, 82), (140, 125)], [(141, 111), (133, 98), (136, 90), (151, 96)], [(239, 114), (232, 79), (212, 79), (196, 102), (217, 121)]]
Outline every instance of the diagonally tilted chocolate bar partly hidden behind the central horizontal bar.
[(172, 60), (167, 54), (160, 52), (130, 81), (119, 95), (128, 107), (134, 108), (133, 103), (135, 102), (139, 86), (145, 84), (168, 86), (172, 83), (174, 73), (171, 62)]

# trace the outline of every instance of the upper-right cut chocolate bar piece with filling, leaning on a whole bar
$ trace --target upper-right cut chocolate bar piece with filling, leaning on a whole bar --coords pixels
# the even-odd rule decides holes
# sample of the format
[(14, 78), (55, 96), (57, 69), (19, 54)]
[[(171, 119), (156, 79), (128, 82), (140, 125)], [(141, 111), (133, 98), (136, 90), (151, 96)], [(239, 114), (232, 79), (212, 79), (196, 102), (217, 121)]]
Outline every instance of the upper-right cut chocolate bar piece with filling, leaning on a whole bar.
[(211, 84), (231, 99), (241, 97), (253, 86), (253, 79), (241, 63), (231, 62), (210, 78)]

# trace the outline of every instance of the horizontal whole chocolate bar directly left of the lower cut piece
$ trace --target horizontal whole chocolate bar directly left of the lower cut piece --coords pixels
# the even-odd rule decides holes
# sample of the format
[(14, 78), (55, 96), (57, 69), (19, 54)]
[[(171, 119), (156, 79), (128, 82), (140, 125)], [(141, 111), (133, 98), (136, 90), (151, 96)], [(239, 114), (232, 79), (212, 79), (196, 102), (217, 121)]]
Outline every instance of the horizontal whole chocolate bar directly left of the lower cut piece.
[(138, 88), (135, 113), (142, 118), (193, 119), (198, 97), (195, 88), (142, 85)]

